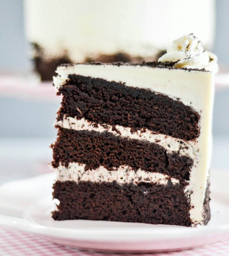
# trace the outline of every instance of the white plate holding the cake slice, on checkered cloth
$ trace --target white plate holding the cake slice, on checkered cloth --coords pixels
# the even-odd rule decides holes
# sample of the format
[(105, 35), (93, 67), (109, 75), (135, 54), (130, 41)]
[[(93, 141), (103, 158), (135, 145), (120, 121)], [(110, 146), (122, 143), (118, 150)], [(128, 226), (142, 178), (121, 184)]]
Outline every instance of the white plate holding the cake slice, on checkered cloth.
[(37, 234), (56, 244), (96, 252), (178, 251), (229, 237), (229, 172), (226, 171), (211, 170), (212, 218), (208, 226), (201, 228), (112, 221), (54, 221), (51, 218), (53, 179), (54, 174), (48, 173), (2, 185), (0, 213), (4, 215), (0, 215), (0, 224)]

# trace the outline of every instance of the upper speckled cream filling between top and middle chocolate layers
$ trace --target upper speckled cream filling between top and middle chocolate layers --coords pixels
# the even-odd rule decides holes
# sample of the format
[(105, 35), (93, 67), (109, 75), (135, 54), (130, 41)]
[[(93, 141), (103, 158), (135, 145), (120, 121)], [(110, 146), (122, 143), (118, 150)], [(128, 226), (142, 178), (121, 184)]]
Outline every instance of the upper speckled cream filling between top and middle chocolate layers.
[(198, 148), (195, 146), (195, 141), (186, 142), (169, 135), (164, 135), (160, 133), (154, 133), (148, 129), (138, 130), (136, 132), (131, 132), (130, 127), (123, 127), (121, 125), (115, 125), (113, 129), (112, 125), (109, 124), (94, 124), (84, 118), (77, 119), (73, 117), (65, 117), (61, 121), (56, 121), (56, 125), (59, 125), (66, 129), (73, 129), (77, 131), (95, 131), (95, 132), (111, 132), (114, 135), (120, 135), (125, 138), (136, 139), (136, 140), (146, 140), (151, 143), (158, 144), (159, 146), (165, 148), (168, 153), (178, 152), (180, 156), (188, 156), (192, 159), (197, 159)]

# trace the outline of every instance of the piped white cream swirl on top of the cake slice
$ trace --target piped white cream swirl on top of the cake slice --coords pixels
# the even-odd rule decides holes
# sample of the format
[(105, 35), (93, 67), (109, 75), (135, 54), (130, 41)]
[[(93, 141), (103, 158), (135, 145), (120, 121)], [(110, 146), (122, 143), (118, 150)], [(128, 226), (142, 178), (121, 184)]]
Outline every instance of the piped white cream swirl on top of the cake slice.
[(217, 57), (211, 52), (204, 51), (201, 42), (193, 34), (174, 40), (167, 53), (158, 61), (176, 62), (174, 68), (204, 68), (214, 73), (218, 71)]

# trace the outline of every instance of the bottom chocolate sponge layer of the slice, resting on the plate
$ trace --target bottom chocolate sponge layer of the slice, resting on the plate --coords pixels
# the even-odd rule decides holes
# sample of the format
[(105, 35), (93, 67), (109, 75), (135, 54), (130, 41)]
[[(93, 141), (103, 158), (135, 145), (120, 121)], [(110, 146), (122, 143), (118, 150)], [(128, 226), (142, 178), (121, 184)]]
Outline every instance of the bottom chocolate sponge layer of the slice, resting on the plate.
[(190, 203), (183, 188), (155, 184), (119, 185), (116, 182), (57, 181), (59, 199), (54, 220), (110, 220), (190, 226)]

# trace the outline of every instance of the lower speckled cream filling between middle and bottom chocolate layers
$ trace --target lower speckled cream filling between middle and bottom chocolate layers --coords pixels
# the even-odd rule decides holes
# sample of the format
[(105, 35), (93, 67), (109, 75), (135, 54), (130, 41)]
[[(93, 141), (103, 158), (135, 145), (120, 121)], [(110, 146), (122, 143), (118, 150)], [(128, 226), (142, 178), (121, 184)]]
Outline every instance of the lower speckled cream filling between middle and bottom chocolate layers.
[(139, 182), (153, 182), (155, 184), (167, 185), (168, 181), (175, 185), (179, 180), (170, 178), (168, 175), (159, 172), (145, 172), (138, 169), (133, 170), (128, 165), (121, 165), (118, 168), (109, 171), (104, 166), (99, 166), (95, 170), (85, 171), (85, 164), (69, 163), (66, 168), (61, 163), (56, 168), (57, 178), (59, 181), (91, 181), (91, 182), (112, 182), (116, 181), (119, 184), (133, 183), (137, 185)]

